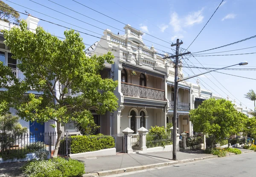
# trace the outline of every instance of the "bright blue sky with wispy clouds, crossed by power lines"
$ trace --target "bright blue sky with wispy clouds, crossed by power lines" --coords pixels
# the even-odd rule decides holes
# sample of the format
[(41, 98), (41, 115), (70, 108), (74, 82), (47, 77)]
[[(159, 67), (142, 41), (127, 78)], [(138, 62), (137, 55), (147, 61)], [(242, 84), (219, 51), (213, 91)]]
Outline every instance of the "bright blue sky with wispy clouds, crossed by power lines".
[[(40, 20), (38, 24), (53, 35), (64, 37), (64, 31), (67, 28), (72, 28), (77, 31), (94, 35), (95, 37), (81, 33), (84, 43), (90, 45), (94, 44), (96, 41), (99, 41), (99, 38), (103, 35), (104, 29), (110, 29), (111, 32), (115, 34), (119, 32), (119, 34), (122, 35), (125, 34), (123, 32), (123, 27), (125, 26), (123, 23), (130, 24), (132, 27), (147, 33), (143, 35), (143, 39), (148, 40), (144, 41), (144, 43), (148, 46), (151, 46), (153, 43), (155, 49), (157, 49), (159, 53), (163, 53), (162, 51), (173, 53), (172, 49), (170, 48), (175, 48), (171, 47), (171, 43), (175, 43), (177, 38), (183, 41), (183, 44), (180, 47), (187, 49), (187, 47), (192, 43), (209, 18), (212, 16), (213, 12), (221, 3), (221, 0), (76, 0), (76, 2), (74, 0), (51, 0), (52, 2), (50, 0), (33, 1), (3, 0), (3, 2), (9, 4), (9, 6), (13, 7), (17, 11), (24, 12), (26, 10), (32, 16), (66, 27), (56, 26)], [(72, 9), (75, 12), (58, 6), (53, 2)], [(25, 6), (26, 8), (14, 3)], [(37, 3), (41, 3), (46, 7)], [(85, 6), (82, 6), (79, 3), (99, 11), (102, 14), (108, 15), (119, 22), (99, 14)], [(256, 35), (256, 23), (254, 23), (255, 6), (255, 0), (224, 0), (207, 26), (205, 26), (204, 30), (188, 50), (192, 53), (199, 52), (230, 44), (235, 41)], [(48, 9), (47, 7), (51, 9)], [(44, 13), (48, 16), (42, 15), (33, 10)], [(56, 12), (55, 10), (61, 12), (62, 14)], [(21, 17), (26, 19), (27, 16), (21, 15)], [(105, 24), (99, 23), (88, 17)], [(90, 30), (91, 32), (87, 30)], [(152, 36), (157, 37), (158, 39)], [(252, 47), (256, 46), (255, 42), (256, 38), (252, 38), (238, 44), (201, 53), (222, 52)], [(86, 48), (90, 45), (86, 45)], [(181, 51), (185, 52), (183, 49)], [(256, 47), (209, 55), (239, 54), (250, 52), (256, 52)], [(199, 54), (200, 53), (194, 55)], [(233, 68), (256, 68), (255, 57), (256, 54), (205, 57), (195, 56), (196, 59), (194, 57), (187, 56), (187, 59), (184, 57), (185, 61), (183, 61), (183, 64), (195, 65), (196, 67), (202, 67), (203, 65), (204, 67), (220, 68), (238, 64), (242, 61), (247, 61), (248, 65), (236, 66)], [(183, 68), (184, 76), (205, 72), (205, 70), (198, 70), (197, 68), (192, 68), (191, 70), (193, 73), (189, 70), (189, 68)], [(220, 72), (239, 75), (242, 77), (256, 78), (256, 70), (220, 70)], [(196, 79), (197, 78), (189, 79), (189, 82), (196, 83)], [(256, 91), (255, 80), (215, 72), (201, 75), (198, 79), (200, 80), (200, 85), (206, 90), (211, 90), (214, 95), (221, 96), (223, 98), (227, 98), (227, 96), (229, 96), (229, 100), (233, 101), (233, 103), (239, 105), (241, 102), (244, 109), (246, 107), (248, 109), (253, 109), (253, 102), (245, 99), (244, 94), (246, 94), (250, 89)]]

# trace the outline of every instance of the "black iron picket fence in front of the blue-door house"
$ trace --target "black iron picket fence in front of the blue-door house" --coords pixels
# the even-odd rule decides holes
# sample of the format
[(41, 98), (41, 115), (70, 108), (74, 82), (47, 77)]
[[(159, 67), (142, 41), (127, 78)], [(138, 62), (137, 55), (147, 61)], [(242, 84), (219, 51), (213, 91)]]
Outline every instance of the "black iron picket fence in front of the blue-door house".
[[(51, 155), (55, 150), (57, 140), (56, 132), (26, 133), (15, 135), (11, 133), (0, 133), (0, 155), (15, 154), (22, 156), (29, 153), (49, 151)], [(58, 155), (65, 156), (70, 151), (70, 135), (68, 132), (61, 134), (61, 143)]]

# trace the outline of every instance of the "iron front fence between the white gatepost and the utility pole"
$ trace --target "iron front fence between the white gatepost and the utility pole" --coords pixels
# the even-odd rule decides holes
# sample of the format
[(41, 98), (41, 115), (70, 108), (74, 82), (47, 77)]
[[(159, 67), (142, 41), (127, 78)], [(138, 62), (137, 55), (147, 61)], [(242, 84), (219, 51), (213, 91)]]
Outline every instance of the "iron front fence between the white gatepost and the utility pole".
[(154, 147), (164, 147), (166, 145), (172, 145), (172, 136), (170, 134), (166, 135), (146, 135), (146, 146), (147, 148)]

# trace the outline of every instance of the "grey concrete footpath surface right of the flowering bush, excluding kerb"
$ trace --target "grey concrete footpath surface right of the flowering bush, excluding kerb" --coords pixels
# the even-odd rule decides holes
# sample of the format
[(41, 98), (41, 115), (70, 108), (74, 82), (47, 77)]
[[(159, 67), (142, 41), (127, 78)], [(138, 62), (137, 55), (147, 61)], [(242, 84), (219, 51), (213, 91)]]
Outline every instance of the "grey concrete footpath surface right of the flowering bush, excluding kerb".
[[(212, 154), (204, 154), (201, 150), (179, 151), (177, 160), (208, 157)], [(76, 158), (84, 162), (86, 173), (96, 173), (99, 171), (114, 170), (119, 168), (134, 167), (140, 165), (150, 165), (172, 160), (172, 151), (154, 152), (145, 154), (118, 154), (105, 157)]]

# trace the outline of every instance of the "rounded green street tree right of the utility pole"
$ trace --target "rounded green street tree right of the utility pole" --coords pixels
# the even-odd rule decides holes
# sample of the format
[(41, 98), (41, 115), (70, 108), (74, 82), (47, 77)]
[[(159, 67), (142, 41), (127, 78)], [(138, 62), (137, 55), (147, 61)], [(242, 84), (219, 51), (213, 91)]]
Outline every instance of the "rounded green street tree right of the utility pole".
[(197, 109), (190, 110), (189, 115), (194, 131), (212, 136), (211, 147), (215, 140), (241, 131), (242, 115), (225, 99), (205, 100)]

